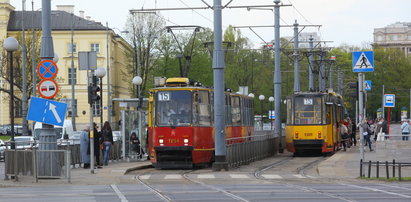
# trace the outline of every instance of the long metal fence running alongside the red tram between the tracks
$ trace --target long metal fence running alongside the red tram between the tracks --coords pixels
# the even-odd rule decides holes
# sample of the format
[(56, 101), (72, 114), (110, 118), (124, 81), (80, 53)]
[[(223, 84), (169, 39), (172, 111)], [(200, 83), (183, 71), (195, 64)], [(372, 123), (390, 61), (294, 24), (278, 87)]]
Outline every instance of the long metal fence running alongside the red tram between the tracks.
[(238, 167), (274, 155), (278, 150), (278, 138), (273, 134), (227, 139), (227, 162)]

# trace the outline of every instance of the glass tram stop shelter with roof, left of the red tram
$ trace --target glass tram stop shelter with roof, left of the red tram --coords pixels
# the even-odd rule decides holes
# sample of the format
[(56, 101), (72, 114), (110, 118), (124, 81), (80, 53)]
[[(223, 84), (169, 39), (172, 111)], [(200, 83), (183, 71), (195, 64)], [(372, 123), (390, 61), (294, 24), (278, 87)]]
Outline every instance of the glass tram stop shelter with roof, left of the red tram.
[[(145, 160), (143, 153), (148, 151), (147, 139), (147, 103), (148, 98), (143, 98), (139, 106), (138, 98), (114, 98), (120, 107), (120, 133), (121, 133), (121, 157), (128, 161)], [(140, 147), (131, 142), (131, 135), (135, 133), (140, 140)]]

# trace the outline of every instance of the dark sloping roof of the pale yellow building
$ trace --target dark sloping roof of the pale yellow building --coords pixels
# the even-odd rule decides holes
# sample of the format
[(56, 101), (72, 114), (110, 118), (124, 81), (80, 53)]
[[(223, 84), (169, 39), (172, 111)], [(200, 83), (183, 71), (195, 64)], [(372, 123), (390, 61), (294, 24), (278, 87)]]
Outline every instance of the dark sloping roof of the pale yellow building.
[[(8, 23), (8, 31), (20, 31), (22, 20), (26, 29), (41, 29), (41, 11), (12, 11)], [(65, 11), (51, 11), (51, 29), (64, 30), (106, 30), (100, 22), (94, 22)], [(110, 29), (111, 30), (111, 29)]]

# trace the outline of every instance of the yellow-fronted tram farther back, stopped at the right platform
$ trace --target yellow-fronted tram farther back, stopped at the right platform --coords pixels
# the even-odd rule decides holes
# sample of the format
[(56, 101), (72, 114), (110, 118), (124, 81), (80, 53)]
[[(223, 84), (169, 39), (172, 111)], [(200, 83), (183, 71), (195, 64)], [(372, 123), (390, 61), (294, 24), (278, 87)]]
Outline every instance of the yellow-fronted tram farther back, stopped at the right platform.
[(334, 152), (341, 143), (338, 122), (344, 112), (343, 99), (335, 92), (300, 92), (287, 97), (287, 150), (294, 154)]

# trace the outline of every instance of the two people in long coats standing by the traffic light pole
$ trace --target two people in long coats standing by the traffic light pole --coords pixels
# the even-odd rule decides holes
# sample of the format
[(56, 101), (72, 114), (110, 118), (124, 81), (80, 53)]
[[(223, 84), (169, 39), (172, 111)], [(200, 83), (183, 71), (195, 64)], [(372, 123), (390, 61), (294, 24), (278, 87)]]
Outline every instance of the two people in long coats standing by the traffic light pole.
[[(108, 165), (110, 148), (113, 145), (113, 131), (111, 130), (110, 123), (106, 121), (103, 128), (98, 131), (98, 126), (93, 123), (93, 136), (94, 136), (94, 160), (97, 168), (102, 168), (100, 162), (100, 150), (103, 154), (103, 163)], [(90, 127), (86, 127), (80, 134), (80, 156), (83, 168), (90, 168)]]

